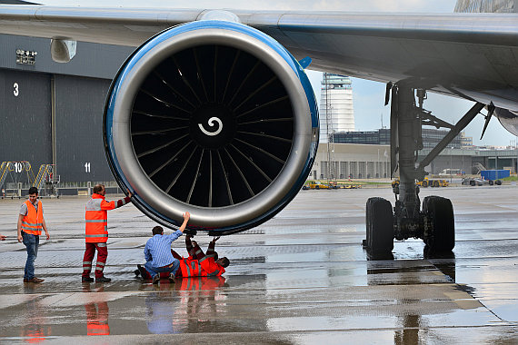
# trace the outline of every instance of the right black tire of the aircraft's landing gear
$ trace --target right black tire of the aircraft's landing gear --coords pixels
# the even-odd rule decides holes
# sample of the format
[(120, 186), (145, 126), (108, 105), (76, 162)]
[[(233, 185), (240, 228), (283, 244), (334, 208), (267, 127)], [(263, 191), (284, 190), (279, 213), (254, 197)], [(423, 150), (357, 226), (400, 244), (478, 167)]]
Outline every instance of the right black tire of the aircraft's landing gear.
[(450, 199), (427, 196), (423, 200), (423, 212), (432, 223), (431, 233), (423, 242), (430, 251), (452, 251), (455, 246), (455, 222)]

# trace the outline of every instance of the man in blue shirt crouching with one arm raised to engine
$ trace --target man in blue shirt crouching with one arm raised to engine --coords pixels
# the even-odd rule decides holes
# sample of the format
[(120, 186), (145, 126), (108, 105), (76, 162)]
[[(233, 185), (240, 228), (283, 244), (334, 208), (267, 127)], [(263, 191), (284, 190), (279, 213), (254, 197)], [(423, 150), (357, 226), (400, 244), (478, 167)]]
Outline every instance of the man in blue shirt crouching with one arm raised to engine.
[(170, 235), (164, 235), (164, 229), (161, 226), (155, 226), (153, 237), (145, 243), (144, 256), (146, 262), (144, 267), (153, 277), (154, 284), (160, 281), (161, 272), (169, 272), (169, 281), (174, 282), (174, 274), (180, 267), (180, 261), (174, 259), (171, 253), (171, 243), (182, 236), (190, 216), (189, 212), (185, 212), (182, 226)]

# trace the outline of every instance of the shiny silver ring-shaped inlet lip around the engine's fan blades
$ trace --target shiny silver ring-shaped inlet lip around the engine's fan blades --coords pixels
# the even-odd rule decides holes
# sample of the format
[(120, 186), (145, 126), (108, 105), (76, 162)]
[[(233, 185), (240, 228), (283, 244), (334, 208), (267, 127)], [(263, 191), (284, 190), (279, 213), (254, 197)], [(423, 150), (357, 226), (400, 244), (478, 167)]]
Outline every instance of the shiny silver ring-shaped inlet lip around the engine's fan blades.
[[(241, 25), (244, 26), (244, 25)], [(285, 196), (292, 190), (294, 183), (304, 171), (307, 163), (310, 145), (312, 143), (312, 124), (309, 104), (293, 66), (286, 61), (284, 55), (279, 54), (272, 47), (271, 42), (264, 42), (261, 34), (251, 36), (249, 33), (225, 28), (203, 28), (192, 31), (183, 31), (179, 34), (170, 29), (155, 36), (141, 47), (140, 54), (126, 62), (119, 74), (114, 89), (118, 94), (113, 104), (113, 150), (120, 173), (125, 176), (127, 182), (134, 191), (147, 202), (144, 207), (151, 207), (146, 213), (155, 212), (166, 214), (169, 220), (164, 219), (168, 225), (171, 219), (181, 219), (185, 211), (193, 214), (192, 223), (203, 229), (224, 228), (235, 224), (243, 224), (261, 217), (268, 212), (274, 212), (284, 202)], [(246, 31), (254, 30), (244, 26)], [(254, 30), (255, 31), (255, 30)], [(270, 39), (271, 40), (271, 39)], [(204, 44), (222, 44), (242, 49), (256, 58), (261, 59), (277, 74), (284, 84), (286, 92), (292, 100), (294, 112), (294, 142), (286, 161), (286, 165), (263, 192), (259, 192), (253, 198), (231, 206), (208, 208), (190, 205), (173, 199), (163, 192), (144, 173), (144, 169), (138, 162), (134, 153), (131, 140), (131, 109), (134, 99), (144, 79), (153, 69), (164, 61), (165, 58), (184, 49)], [(280, 47), (280, 48), (279, 48)], [(284, 52), (285, 54), (285, 52)], [(293, 64), (293, 62), (292, 62)]]

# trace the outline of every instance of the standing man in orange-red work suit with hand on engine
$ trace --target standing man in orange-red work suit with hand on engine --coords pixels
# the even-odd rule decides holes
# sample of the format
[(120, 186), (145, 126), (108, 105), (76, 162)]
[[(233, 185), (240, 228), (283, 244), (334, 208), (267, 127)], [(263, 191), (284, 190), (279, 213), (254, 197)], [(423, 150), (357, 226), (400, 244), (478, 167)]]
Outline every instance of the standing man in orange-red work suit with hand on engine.
[(85, 232), (86, 232), (86, 249), (85, 257), (83, 258), (83, 276), (81, 281), (90, 282), (94, 278), (90, 277), (92, 271), (92, 261), (94, 260), (95, 250), (97, 250), (97, 262), (95, 264), (95, 281), (108, 282), (112, 281), (105, 277), (103, 271), (105, 270), (106, 258), (108, 257), (108, 248), (106, 242), (108, 241), (108, 210), (114, 210), (118, 207), (124, 206), (130, 202), (132, 197), (131, 192), (128, 191), (128, 196), (120, 199), (117, 202), (105, 201), (105, 185), (96, 184), (92, 199), (86, 202), (85, 212)]

